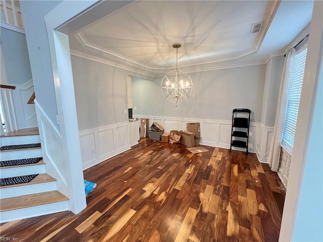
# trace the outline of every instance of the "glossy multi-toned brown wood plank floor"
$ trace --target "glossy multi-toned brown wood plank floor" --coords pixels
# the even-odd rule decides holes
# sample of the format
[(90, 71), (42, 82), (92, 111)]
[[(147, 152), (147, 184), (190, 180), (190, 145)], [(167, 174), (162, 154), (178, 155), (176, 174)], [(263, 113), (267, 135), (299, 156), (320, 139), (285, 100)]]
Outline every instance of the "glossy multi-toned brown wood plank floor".
[(278, 241), (285, 195), (255, 154), (144, 139), (84, 171), (87, 208), (1, 224), (19, 241)]

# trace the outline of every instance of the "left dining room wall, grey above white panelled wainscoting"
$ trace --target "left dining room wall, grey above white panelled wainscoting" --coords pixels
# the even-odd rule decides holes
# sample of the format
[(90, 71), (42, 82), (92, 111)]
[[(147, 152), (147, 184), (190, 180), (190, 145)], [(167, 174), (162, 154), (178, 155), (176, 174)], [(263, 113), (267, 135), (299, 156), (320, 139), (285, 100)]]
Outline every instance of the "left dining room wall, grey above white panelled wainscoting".
[(74, 55), (71, 61), (82, 165), (87, 169), (130, 149), (127, 77), (139, 74)]

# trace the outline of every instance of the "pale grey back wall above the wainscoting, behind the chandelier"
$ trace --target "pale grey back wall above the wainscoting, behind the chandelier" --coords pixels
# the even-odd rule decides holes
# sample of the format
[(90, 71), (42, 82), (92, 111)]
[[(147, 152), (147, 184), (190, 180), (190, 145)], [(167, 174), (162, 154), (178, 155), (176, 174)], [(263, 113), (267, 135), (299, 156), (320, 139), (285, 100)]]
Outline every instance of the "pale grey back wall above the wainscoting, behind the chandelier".
[[(265, 65), (191, 73), (193, 91), (188, 100), (175, 104), (160, 91), (162, 77), (133, 79), (134, 115), (227, 120), (234, 108), (249, 108), (251, 122), (260, 122)], [(178, 106), (175, 109), (175, 106)]]

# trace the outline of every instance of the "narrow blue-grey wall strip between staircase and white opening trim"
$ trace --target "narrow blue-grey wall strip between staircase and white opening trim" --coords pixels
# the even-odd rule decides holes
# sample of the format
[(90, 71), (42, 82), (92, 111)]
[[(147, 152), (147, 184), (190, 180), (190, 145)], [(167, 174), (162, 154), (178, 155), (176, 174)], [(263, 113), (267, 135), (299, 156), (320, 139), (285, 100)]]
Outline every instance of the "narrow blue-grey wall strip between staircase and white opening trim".
[(37, 101), (57, 129), (57, 102), (44, 16), (61, 2), (20, 2)]

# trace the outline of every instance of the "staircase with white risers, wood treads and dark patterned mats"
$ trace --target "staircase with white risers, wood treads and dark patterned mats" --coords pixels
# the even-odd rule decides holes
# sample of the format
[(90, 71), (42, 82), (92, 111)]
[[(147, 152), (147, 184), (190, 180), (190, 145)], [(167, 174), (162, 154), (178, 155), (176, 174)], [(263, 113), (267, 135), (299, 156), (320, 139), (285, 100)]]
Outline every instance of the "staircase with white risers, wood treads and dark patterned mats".
[[(37, 128), (2, 136), (0, 160), (2, 185), (38, 174), (28, 183), (0, 186), (1, 223), (68, 210), (69, 199), (57, 191), (56, 179), (45, 173)], [(15, 178), (3, 180), (8, 177)]]

